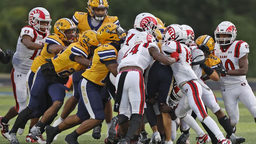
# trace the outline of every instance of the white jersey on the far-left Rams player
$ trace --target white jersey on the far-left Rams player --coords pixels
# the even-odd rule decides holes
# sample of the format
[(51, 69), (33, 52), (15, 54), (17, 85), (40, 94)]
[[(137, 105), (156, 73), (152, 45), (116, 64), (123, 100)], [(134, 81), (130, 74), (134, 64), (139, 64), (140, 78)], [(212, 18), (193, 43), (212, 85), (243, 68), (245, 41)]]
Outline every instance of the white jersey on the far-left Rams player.
[(45, 39), (50, 36), (48, 32), (45, 36), (39, 34), (32, 26), (25, 26), (21, 29), (20, 36), (17, 43), (16, 52), (14, 53), (12, 64), (15, 70), (27, 74), (33, 60), (38, 56), (41, 50), (30, 50), (22, 42), (22, 36), (28, 35), (32, 38), (32, 42), (42, 44)]

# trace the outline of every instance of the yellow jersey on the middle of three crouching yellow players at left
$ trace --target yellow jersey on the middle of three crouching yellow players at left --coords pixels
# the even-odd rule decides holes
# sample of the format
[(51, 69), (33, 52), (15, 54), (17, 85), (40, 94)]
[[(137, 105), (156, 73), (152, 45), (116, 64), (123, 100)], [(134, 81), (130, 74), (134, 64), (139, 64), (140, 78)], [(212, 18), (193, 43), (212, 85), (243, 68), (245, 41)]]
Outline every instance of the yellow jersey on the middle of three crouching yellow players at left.
[(75, 56), (88, 58), (88, 52), (82, 47), (80, 42), (70, 44), (51, 58), (54, 69), (60, 77), (65, 78), (72, 75), (75, 71), (85, 69), (85, 66), (74, 60)]

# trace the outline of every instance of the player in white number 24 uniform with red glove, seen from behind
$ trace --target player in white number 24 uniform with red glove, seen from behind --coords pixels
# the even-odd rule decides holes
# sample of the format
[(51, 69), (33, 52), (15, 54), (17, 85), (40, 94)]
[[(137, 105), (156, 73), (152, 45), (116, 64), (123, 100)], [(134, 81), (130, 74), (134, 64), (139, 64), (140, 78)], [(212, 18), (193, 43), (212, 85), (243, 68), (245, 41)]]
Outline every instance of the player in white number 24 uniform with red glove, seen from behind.
[[(129, 129), (126, 135), (123, 134), (125, 137), (121, 139), (120, 144), (130, 143), (131, 137), (140, 126), (145, 103), (144, 78), (142, 76), (144, 69), (151, 64), (153, 59), (166, 65), (171, 65), (179, 60), (178, 53), (173, 53), (172, 58), (168, 58), (159, 52), (155, 37), (148, 32), (140, 32), (135, 35), (135, 45), (123, 56), (118, 66), (119, 74), (115, 80), (117, 94), (114, 110), (118, 110), (119, 114), (111, 121), (110, 141), (116, 139), (118, 126), (129, 119), (131, 119)], [(169, 143), (172, 141), (170, 140)]]

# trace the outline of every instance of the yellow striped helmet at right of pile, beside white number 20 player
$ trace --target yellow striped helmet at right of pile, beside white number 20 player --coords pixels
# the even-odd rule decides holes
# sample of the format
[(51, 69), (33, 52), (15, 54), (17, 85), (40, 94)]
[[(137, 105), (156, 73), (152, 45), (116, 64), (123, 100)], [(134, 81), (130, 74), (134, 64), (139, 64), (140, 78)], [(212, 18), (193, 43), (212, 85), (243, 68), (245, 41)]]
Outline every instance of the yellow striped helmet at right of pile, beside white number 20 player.
[(211, 36), (203, 35), (199, 36), (196, 40), (196, 44), (199, 46), (201, 44), (205, 44), (209, 47), (209, 51), (207, 51), (205, 55), (205, 59), (209, 58), (209, 55), (213, 53), (214, 50), (214, 40)]

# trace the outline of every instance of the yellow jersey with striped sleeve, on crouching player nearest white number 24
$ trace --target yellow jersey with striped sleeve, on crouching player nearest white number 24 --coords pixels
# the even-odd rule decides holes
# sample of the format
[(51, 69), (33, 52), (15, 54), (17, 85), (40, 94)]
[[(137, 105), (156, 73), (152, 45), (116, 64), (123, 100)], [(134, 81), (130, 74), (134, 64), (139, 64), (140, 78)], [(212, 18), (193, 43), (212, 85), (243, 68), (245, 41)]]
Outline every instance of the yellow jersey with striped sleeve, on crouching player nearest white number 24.
[(82, 76), (100, 86), (106, 85), (106, 77), (109, 69), (104, 64), (108, 60), (116, 60), (117, 49), (112, 44), (103, 44), (94, 50), (94, 55), (90, 66)]

